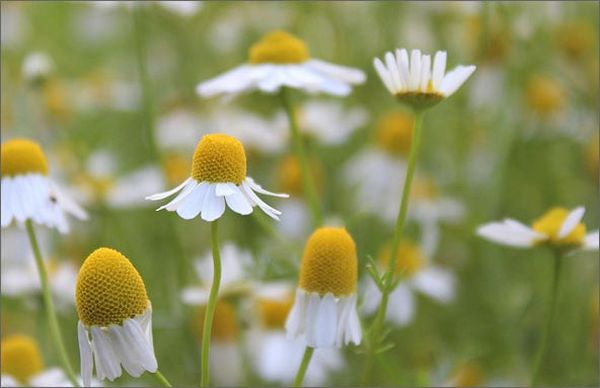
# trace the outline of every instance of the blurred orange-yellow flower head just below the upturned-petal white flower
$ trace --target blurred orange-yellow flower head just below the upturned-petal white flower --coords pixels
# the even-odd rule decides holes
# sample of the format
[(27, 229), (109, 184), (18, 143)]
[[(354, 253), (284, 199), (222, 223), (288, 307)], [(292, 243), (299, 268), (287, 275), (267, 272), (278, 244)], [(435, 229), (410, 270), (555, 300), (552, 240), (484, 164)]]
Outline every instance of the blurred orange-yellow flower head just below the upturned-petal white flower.
[(410, 151), (414, 117), (407, 112), (390, 112), (377, 125), (377, 145), (392, 155), (406, 155)]

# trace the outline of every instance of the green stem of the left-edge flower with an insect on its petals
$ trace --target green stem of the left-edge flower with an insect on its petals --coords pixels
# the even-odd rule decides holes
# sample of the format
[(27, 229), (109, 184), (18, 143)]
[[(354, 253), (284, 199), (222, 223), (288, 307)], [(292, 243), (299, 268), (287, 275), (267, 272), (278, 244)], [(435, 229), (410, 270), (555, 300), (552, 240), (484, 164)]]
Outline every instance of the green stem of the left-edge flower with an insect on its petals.
[(67, 374), (67, 377), (69, 378), (71, 384), (73, 384), (74, 387), (79, 387), (77, 375), (75, 375), (73, 367), (69, 362), (67, 350), (65, 348), (65, 344), (60, 333), (58, 319), (56, 318), (56, 311), (54, 310), (54, 302), (52, 301), (52, 291), (50, 290), (50, 285), (48, 284), (48, 274), (46, 273), (46, 267), (44, 266), (44, 261), (42, 260), (40, 247), (35, 236), (35, 231), (33, 230), (33, 223), (31, 222), (31, 220), (27, 220), (25, 221), (25, 226), (27, 228), (29, 242), (31, 243), (31, 249), (33, 250), (33, 256), (35, 257), (35, 264), (37, 265), (38, 273), (40, 275), (42, 297), (44, 298), (44, 305), (46, 306), (46, 318), (48, 319), (48, 325), (50, 326), (50, 336), (52, 337), (54, 347), (58, 352), (60, 362), (63, 366), (63, 369), (65, 370), (65, 373)]

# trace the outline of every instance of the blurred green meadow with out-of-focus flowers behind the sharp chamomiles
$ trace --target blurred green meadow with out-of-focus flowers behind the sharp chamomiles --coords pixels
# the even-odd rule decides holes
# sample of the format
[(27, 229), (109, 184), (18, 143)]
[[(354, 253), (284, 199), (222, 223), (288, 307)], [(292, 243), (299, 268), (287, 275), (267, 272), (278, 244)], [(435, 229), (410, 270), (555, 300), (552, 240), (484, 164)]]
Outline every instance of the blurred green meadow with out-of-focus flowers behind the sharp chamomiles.
[[(586, 207), (588, 229), (598, 228), (598, 3), (181, 3), (2, 1), (2, 142), (40, 142), (51, 176), (90, 214), (87, 222), (72, 220), (68, 235), (37, 228), (49, 262), (76, 271), (99, 246), (124, 253), (152, 301), (161, 371), (175, 385), (197, 385), (199, 308), (184, 304), (181, 292), (201, 283), (194, 260), (209, 252), (209, 226), (155, 213), (157, 204), (143, 198), (189, 175), (203, 134), (225, 132), (244, 143), (250, 176), (294, 197), (292, 204), (272, 201), (284, 212), (279, 224), (226, 212), (222, 242), (251, 260), (242, 280), (293, 288), (311, 230), (277, 96), (206, 100), (196, 85), (247, 61), (249, 47), (273, 29), (303, 39), (312, 57), (366, 72), (366, 83), (347, 98), (293, 93), (328, 223), (346, 226), (356, 240), (360, 291), (367, 257), (377, 258), (389, 242), (400, 200), (399, 188), (385, 185), (381, 195), (391, 200), (377, 191), (365, 196), (364, 170), (384, 182), (397, 179), (369, 157), (401, 165), (408, 147), (392, 145), (410, 144), (402, 129), (410, 112), (385, 90), (373, 58), (397, 47), (447, 50), (449, 68), (477, 70), (425, 118), (406, 234), (451, 274), (453, 295), (440, 301), (415, 293), (411, 319), (389, 326), (396, 346), (377, 359), (370, 384), (528, 384), (551, 255), (500, 247), (474, 231), (491, 220), (528, 224), (550, 207), (578, 205)], [(1, 334), (34, 337), (44, 364), (58, 366), (39, 291), (11, 282), (11, 271), (27, 268), (35, 279), (29, 252), (23, 229), (2, 230)], [(598, 272), (597, 252), (564, 261), (541, 373), (546, 385), (600, 383)], [(59, 318), (78, 366), (74, 279), (65, 279)], [(228, 385), (282, 384), (253, 366), (261, 347), (246, 341), (258, 314), (247, 295), (232, 293), (228, 301), (241, 357), (241, 377)], [(367, 327), (370, 317), (361, 318)], [(343, 349), (320, 384), (356, 385), (358, 350)], [(145, 375), (105, 385), (154, 383)]]

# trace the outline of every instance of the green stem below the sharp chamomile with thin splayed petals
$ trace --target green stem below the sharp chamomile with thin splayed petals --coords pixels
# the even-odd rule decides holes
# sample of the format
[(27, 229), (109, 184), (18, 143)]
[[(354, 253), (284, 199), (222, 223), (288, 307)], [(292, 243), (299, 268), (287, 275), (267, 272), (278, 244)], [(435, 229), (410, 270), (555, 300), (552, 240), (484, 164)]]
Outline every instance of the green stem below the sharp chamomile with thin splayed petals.
[(208, 387), (210, 383), (210, 375), (208, 371), (208, 359), (210, 351), (210, 336), (212, 333), (212, 322), (215, 315), (217, 305), (217, 294), (219, 293), (219, 284), (221, 283), (221, 253), (219, 252), (219, 227), (217, 221), (211, 224), (211, 241), (213, 251), (213, 282), (210, 287), (210, 295), (206, 305), (206, 314), (204, 315), (204, 327), (202, 328), (202, 366), (200, 376), (200, 386)]

